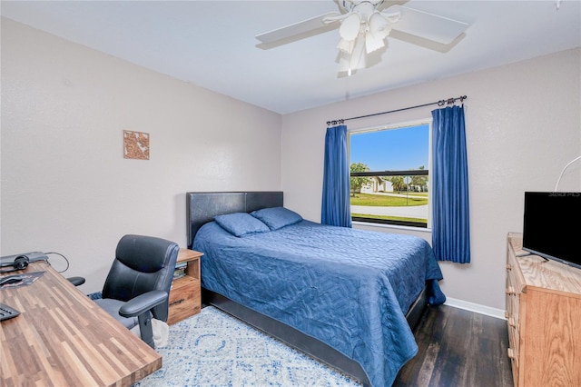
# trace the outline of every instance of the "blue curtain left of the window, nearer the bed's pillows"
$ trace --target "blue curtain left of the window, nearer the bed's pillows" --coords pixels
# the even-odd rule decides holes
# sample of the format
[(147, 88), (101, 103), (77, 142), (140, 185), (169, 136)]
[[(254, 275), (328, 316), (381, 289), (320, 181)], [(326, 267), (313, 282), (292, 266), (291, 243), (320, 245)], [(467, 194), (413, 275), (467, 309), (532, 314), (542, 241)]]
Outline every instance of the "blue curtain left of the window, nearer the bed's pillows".
[(351, 227), (347, 126), (327, 128), (320, 223)]

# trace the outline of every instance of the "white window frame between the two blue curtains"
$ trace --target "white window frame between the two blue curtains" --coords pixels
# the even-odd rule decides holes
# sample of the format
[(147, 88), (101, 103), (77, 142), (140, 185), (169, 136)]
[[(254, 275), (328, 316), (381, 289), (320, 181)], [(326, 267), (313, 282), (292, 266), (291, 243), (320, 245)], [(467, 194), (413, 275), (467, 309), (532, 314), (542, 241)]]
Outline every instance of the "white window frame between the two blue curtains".
[[(347, 129), (348, 141), (347, 141), (347, 152), (349, 154), (349, 160), (351, 164), (351, 134), (361, 134), (370, 132), (379, 132), (384, 130), (394, 130), (394, 129), (405, 129), (414, 126), (428, 125), (428, 168), (423, 170), (410, 170), (410, 171), (369, 171), (369, 172), (356, 172), (350, 173), (350, 177), (357, 176), (410, 176), (410, 175), (430, 175), (429, 171), (432, 169), (432, 118), (424, 118), (412, 121), (398, 122), (394, 124), (379, 124), (373, 126), (366, 126), (362, 128)], [(427, 223), (418, 222), (406, 222), (406, 221), (395, 221), (395, 220), (385, 220), (385, 219), (371, 219), (362, 217), (353, 217), (351, 215), (351, 221), (355, 223), (362, 223), (367, 225), (382, 225), (389, 227), (405, 227), (411, 228), (417, 231), (431, 231), (432, 224), (432, 179), (428, 178), (428, 220)]]

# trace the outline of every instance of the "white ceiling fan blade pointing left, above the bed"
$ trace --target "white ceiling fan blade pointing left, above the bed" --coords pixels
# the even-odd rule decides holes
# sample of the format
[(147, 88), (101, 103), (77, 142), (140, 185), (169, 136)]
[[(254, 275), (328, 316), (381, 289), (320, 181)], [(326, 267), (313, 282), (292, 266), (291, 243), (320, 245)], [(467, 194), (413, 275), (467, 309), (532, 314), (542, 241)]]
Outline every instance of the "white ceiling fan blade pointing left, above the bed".
[(255, 37), (261, 41), (261, 43), (256, 46), (267, 50), (269, 48), (278, 47), (279, 45), (286, 45), (291, 42), (296, 42), (300, 39), (334, 30), (340, 26), (340, 23), (323, 23), (323, 20), (327, 17), (336, 15), (340, 14), (337, 12), (331, 12), (329, 14), (311, 17), (310, 19), (303, 20), (302, 22), (295, 23), (293, 25), (286, 25), (263, 34), (256, 35)]

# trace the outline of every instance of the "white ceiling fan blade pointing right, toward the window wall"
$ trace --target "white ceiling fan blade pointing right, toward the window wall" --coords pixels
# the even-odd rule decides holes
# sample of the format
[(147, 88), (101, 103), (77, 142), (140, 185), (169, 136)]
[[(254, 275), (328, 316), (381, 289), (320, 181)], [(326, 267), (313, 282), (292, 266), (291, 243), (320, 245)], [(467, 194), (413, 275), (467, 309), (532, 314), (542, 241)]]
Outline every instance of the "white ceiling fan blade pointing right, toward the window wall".
[(389, 7), (389, 12), (401, 13), (399, 22), (392, 25), (391, 35), (397, 30), (441, 45), (450, 45), (468, 28), (468, 23), (429, 14), (407, 6), (393, 5)]

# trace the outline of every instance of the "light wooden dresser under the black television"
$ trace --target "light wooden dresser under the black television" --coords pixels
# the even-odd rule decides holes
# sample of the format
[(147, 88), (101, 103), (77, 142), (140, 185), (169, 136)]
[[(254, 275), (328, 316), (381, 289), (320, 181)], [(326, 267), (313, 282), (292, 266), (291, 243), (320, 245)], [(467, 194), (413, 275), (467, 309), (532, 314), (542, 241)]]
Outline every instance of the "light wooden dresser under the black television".
[(522, 234), (508, 233), (506, 317), (515, 386), (581, 386), (581, 269), (525, 254)]

